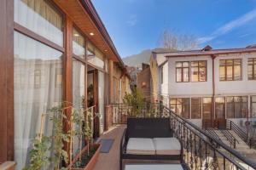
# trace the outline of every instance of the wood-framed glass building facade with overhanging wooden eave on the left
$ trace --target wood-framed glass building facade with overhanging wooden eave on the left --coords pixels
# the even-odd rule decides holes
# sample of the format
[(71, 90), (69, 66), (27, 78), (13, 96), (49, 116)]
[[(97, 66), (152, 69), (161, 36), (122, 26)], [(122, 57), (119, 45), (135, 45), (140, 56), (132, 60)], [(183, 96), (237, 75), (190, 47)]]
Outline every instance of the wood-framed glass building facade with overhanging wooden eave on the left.
[(63, 102), (96, 106), (100, 135), (130, 77), (92, 3), (3, 0), (0, 20), (0, 162), (24, 167), (42, 114)]

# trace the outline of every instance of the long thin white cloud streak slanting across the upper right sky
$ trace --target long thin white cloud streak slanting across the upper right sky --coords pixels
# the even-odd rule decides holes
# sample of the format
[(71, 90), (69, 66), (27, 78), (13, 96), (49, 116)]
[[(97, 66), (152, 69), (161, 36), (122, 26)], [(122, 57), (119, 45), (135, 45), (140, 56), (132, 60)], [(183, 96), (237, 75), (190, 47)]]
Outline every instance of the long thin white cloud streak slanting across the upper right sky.
[(210, 36), (207, 37), (200, 37), (197, 39), (199, 43), (209, 42), (229, 31), (246, 25), (249, 21), (256, 18), (256, 8), (252, 11), (248, 12), (247, 14), (243, 14), (241, 17), (237, 18), (236, 20), (231, 20), (230, 22), (224, 24), (224, 26), (220, 26), (217, 30), (213, 31)]

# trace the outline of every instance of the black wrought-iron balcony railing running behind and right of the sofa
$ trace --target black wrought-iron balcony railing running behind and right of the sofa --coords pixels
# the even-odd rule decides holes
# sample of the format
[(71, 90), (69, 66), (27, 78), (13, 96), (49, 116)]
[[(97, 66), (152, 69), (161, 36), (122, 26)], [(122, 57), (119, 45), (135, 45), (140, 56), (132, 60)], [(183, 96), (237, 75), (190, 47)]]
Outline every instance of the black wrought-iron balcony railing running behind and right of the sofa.
[[(125, 107), (124, 110), (128, 112), (124, 113), (121, 107)], [(191, 169), (256, 169), (254, 161), (242, 156), (219, 139), (213, 138), (211, 134), (178, 116), (166, 106), (113, 105), (113, 111), (116, 111), (113, 112), (113, 116), (116, 116), (113, 117), (114, 124), (125, 123), (124, 119), (130, 116), (145, 118), (152, 116), (170, 117), (172, 130), (175, 136), (183, 143), (183, 161)], [(136, 111), (136, 114), (131, 111)]]

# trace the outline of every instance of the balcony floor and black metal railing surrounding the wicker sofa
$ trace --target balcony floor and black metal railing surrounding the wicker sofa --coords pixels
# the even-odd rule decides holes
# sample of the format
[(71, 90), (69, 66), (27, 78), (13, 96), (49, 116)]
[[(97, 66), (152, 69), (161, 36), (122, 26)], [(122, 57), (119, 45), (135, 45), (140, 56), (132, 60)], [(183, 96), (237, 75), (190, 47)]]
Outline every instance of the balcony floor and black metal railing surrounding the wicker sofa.
[[(136, 111), (135, 111), (136, 110)], [(196, 127), (163, 105), (145, 105), (142, 108), (128, 105), (111, 105), (108, 108), (108, 132), (101, 139), (114, 139), (108, 154), (100, 154), (95, 169), (119, 169), (120, 141), (130, 117), (167, 117), (174, 136), (183, 146), (183, 160), (187, 169), (242, 169), (256, 168), (256, 162), (243, 156), (229, 145)], [(111, 122), (109, 122), (111, 121)], [(151, 164), (177, 163), (172, 161), (149, 161)], [(147, 160), (128, 160), (124, 164), (148, 164)], [(125, 166), (123, 166), (125, 167)]]

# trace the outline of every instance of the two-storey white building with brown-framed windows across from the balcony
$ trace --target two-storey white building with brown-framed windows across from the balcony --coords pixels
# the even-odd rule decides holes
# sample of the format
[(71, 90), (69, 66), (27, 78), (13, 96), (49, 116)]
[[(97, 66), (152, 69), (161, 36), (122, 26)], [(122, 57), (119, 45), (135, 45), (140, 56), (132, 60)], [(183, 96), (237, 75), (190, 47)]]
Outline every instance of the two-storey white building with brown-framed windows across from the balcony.
[(150, 64), (152, 94), (191, 122), (224, 126), (231, 119), (242, 126), (256, 117), (256, 46), (158, 50)]

